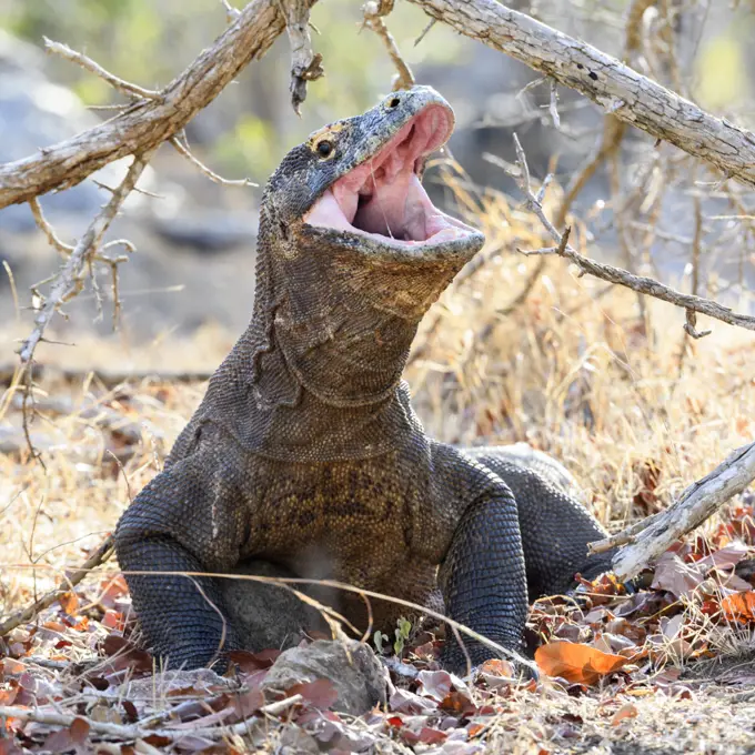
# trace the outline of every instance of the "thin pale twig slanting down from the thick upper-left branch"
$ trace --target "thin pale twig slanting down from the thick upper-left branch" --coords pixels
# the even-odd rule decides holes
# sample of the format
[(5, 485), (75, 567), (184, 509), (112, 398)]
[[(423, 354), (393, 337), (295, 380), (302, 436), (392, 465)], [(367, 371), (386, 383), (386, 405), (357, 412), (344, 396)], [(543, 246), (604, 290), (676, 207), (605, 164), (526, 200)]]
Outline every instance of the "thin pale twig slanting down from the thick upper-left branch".
[(39, 313), (34, 318), (34, 330), (19, 350), (21, 362), (29, 363), (32, 360), (34, 350), (42, 340), (44, 330), (50, 324), (50, 320), (52, 320), (58, 308), (80, 286), (80, 276), (84, 264), (90, 255), (97, 252), (102, 236), (118, 214), (131, 189), (135, 185), (151, 157), (152, 152), (134, 157), (121, 185), (113, 192), (108, 204), (105, 204), (102, 211), (90, 223), (81, 239), (79, 239), (66, 264), (56, 276), (49, 296), (44, 300), (39, 309)]

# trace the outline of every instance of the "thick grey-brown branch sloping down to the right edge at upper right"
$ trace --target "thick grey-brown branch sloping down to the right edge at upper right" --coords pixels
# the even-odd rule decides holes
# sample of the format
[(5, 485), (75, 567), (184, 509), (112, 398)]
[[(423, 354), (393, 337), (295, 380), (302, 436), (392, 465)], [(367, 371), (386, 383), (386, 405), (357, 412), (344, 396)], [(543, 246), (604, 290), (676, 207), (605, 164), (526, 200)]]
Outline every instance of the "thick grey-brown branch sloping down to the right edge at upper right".
[(616, 58), (495, 0), (410, 0), (462, 34), (581, 92), (618, 120), (755, 187), (755, 134), (711, 115)]

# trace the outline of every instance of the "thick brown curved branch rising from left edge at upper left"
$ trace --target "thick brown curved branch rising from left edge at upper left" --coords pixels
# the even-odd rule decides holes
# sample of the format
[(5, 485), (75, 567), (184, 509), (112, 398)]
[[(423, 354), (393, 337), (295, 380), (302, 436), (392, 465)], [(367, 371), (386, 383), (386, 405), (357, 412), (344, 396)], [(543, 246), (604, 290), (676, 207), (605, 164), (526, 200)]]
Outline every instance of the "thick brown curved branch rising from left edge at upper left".
[(261, 58), (284, 27), (278, 0), (253, 0), (212, 47), (159, 92), (159, 100), (134, 102), (72, 139), (0, 165), (0, 209), (73, 187), (108, 163), (171, 139), (251, 60)]

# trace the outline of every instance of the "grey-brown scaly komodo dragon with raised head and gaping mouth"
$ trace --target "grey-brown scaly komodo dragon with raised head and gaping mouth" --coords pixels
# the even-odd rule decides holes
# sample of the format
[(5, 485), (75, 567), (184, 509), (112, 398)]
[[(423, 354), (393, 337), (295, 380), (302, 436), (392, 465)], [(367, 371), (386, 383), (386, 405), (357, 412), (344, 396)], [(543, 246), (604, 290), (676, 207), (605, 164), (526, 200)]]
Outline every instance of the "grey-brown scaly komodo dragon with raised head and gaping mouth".
[[(130, 571), (262, 560), (445, 606), (517, 650), (527, 596), (607, 565), (586, 556), (605, 532), (574, 497), (505, 450), (427, 437), (401, 380), (420, 320), (484, 241), (421, 184), (453, 124), (434, 90), (395, 92), (313, 133), (270, 179), (251, 324), (115, 531), (145, 641), (171, 666), (239, 647), (222, 580)], [(358, 596), (339, 608), (364, 626)], [(373, 608), (389, 631), (405, 611)], [(474, 664), (494, 654), (466, 648)], [(464, 666), (455, 641), (442, 662)]]

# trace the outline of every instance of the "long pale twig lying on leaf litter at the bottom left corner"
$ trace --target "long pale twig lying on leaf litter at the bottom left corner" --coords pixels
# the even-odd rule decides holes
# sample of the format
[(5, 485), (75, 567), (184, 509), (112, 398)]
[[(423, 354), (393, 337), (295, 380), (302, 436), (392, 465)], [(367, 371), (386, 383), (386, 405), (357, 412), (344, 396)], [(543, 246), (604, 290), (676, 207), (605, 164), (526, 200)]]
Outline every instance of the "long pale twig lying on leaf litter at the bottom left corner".
[[(175, 742), (188, 736), (207, 737), (209, 739), (220, 739), (225, 736), (241, 736), (249, 732), (250, 724), (256, 722), (262, 715), (279, 715), (284, 711), (299, 705), (303, 702), (302, 695), (291, 695), (283, 699), (275, 701), (269, 705), (263, 705), (253, 716), (244, 718), (232, 726), (195, 726), (189, 728), (148, 728), (139, 724), (111, 724), (104, 721), (94, 721), (84, 716), (74, 716), (69, 713), (57, 713), (54, 711), (40, 711), (39, 708), (12, 707), (9, 705), (0, 706), (0, 716), (3, 718), (18, 718), (19, 721), (34, 721), (48, 726), (71, 726), (79, 718), (84, 721), (91, 732), (103, 736), (115, 737), (118, 739), (141, 739), (149, 736), (158, 736)], [(202, 723), (200, 718), (198, 724)]]

